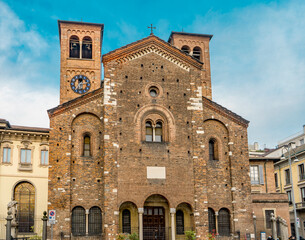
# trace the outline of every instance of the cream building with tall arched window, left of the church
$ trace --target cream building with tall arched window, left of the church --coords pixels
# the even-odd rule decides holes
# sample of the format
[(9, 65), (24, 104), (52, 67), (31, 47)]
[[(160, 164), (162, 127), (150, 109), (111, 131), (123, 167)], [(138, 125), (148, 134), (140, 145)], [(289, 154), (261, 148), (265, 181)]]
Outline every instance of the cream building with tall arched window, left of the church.
[(49, 129), (14, 126), (0, 119), (0, 239), (5, 238), (11, 201), (18, 202), (18, 236), (41, 236), (41, 217), (47, 210), (48, 150)]

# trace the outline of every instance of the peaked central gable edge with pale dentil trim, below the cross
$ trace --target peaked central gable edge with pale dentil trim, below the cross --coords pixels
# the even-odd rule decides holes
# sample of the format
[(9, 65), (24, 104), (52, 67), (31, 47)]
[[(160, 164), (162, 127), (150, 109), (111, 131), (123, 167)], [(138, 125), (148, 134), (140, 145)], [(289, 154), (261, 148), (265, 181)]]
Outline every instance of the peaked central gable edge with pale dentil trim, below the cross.
[(161, 38), (155, 35), (149, 35), (146, 38), (142, 38), (136, 42), (127, 44), (123, 47), (110, 51), (103, 55), (102, 62), (109, 62), (114, 59), (120, 59), (126, 57), (126, 55), (131, 55), (136, 53), (139, 49), (148, 47), (149, 45), (155, 45), (157, 48), (161, 48), (162, 50), (166, 50), (169, 54), (173, 57), (179, 58), (182, 61), (186, 62), (189, 65), (192, 65), (196, 68), (201, 69), (202, 65), (204, 64), (197, 58), (183, 52), (182, 50), (176, 48), (175, 46), (171, 45), (170, 43), (162, 40)]

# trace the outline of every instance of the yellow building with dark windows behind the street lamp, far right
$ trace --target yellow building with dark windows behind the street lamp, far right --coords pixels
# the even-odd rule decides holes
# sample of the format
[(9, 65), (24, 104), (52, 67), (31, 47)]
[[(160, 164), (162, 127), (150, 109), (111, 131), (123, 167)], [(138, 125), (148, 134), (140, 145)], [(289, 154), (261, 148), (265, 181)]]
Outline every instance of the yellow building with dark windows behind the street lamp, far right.
[[(295, 139), (292, 141), (295, 141)], [(282, 157), (280, 161), (274, 164), (276, 191), (280, 193), (287, 193), (288, 195), (290, 202), (289, 210), (291, 230), (292, 234), (294, 234), (294, 215), (291, 193), (291, 184), (293, 183), (297, 216), (300, 218), (299, 232), (300, 236), (305, 237), (305, 144), (297, 146), (291, 150), (291, 163), (292, 179), (290, 179), (287, 152), (284, 154), (284, 157)]]

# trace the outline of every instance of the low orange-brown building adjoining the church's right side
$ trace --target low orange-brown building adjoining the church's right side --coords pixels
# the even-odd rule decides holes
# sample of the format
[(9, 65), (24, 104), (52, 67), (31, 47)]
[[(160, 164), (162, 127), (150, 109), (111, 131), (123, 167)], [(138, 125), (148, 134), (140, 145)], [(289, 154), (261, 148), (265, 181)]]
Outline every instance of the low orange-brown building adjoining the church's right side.
[[(253, 212), (256, 216), (256, 234), (261, 232), (272, 235), (271, 213), (277, 218), (277, 236), (287, 239), (290, 236), (290, 219), (288, 197), (285, 193), (277, 193), (274, 181), (274, 161), (278, 158), (268, 158), (261, 156), (261, 152), (254, 156), (250, 155), (250, 179), (253, 202)], [(281, 224), (284, 219), (288, 231)], [(258, 237), (259, 238), (259, 237)]]

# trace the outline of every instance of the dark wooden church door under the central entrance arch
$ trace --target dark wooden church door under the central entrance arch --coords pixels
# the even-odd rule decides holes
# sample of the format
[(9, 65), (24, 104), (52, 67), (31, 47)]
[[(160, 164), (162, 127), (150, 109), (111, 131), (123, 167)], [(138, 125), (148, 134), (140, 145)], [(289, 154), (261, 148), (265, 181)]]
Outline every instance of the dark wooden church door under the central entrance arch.
[(165, 213), (163, 207), (144, 207), (144, 240), (165, 240)]

